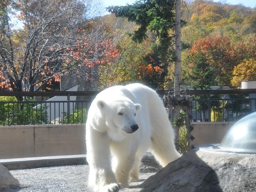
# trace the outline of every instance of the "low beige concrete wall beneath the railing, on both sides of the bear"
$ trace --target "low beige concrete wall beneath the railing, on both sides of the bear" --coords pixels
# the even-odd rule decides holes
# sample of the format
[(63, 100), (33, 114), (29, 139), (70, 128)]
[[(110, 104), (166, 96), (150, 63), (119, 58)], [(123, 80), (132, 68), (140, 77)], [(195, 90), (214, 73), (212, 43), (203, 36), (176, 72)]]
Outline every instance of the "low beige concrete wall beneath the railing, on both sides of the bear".
[[(232, 122), (193, 122), (195, 146), (220, 143)], [(86, 154), (84, 125), (0, 126), (0, 159)]]

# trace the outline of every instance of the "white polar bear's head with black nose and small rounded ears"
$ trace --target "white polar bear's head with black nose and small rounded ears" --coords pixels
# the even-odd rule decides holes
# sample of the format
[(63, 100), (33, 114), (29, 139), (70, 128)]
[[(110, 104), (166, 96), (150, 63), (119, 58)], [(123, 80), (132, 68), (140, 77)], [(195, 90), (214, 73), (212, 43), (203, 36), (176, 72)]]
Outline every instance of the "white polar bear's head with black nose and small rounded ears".
[(112, 139), (120, 140), (139, 129), (136, 114), (141, 109), (140, 104), (133, 103), (130, 99), (112, 100), (108, 103), (98, 100), (97, 106), (108, 127), (108, 135)]

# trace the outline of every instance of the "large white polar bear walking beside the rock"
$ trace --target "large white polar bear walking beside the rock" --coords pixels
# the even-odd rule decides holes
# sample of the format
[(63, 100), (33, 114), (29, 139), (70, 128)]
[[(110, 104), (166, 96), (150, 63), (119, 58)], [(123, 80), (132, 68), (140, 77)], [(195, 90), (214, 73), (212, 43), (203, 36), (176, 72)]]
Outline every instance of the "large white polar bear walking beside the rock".
[(157, 93), (140, 83), (114, 86), (92, 101), (86, 122), (89, 186), (118, 191), (138, 180), (141, 157), (151, 150), (164, 167), (180, 154)]

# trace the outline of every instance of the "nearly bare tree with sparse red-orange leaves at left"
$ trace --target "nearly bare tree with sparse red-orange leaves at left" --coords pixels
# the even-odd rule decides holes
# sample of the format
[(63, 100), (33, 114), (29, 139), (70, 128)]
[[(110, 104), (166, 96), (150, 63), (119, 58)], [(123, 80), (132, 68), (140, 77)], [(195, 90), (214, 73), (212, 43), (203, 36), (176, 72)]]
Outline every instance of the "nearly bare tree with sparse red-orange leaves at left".
[[(97, 80), (97, 66), (116, 50), (105, 27), (92, 25), (90, 2), (24, 0), (1, 7), (0, 68), (9, 90), (37, 91), (70, 72), (89, 84)], [(11, 27), (11, 10), (22, 29)]]

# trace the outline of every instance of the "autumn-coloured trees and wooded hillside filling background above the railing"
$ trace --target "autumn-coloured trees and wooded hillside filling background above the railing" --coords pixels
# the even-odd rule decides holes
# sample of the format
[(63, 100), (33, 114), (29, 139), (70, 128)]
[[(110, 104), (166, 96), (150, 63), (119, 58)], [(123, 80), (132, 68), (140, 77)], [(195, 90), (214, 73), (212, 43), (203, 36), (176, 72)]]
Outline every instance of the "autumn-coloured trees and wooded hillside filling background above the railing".
[[(169, 14), (165, 20), (153, 19), (162, 13), (160, 7), (147, 11), (140, 5), (144, 10), (140, 16), (152, 16), (146, 21), (147, 30), (146, 25), (141, 28), (114, 14), (91, 16), (90, 4), (95, 1), (15, 2), (0, 6), (0, 90), (58, 90), (65, 75), (87, 84), (84, 90), (92, 90), (95, 82), (93, 90), (129, 82), (173, 89), (175, 36), (169, 28), (173, 22)], [(241, 81), (255, 80), (255, 9), (204, 0), (186, 6), (182, 7), (181, 86), (239, 88)], [(13, 28), (8, 14), (22, 27)], [(166, 30), (159, 31), (160, 24)]]

